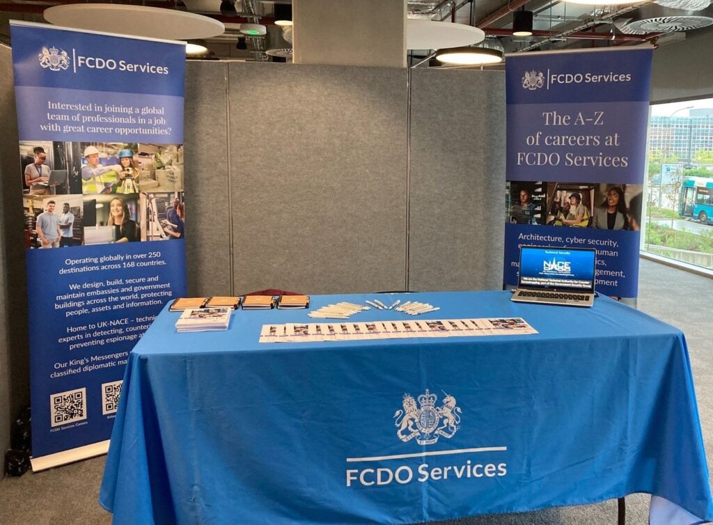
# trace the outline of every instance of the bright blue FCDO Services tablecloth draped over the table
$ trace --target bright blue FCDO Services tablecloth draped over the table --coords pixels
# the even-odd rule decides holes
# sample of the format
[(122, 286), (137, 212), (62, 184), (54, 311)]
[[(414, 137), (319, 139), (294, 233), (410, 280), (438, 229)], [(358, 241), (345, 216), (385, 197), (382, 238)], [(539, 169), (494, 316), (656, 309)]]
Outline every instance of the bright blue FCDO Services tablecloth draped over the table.
[[(396, 298), (441, 307), (419, 318), (523, 317), (539, 333), (260, 344), (263, 323), (307, 311), (239, 310), (227, 332), (178, 334), (164, 310), (125, 372), (100, 494), (115, 523), (410, 524), (634, 492), (665, 499), (652, 522), (713, 519), (679, 330), (605, 297), (381, 300)], [(418, 431), (434, 424), (428, 442)]]

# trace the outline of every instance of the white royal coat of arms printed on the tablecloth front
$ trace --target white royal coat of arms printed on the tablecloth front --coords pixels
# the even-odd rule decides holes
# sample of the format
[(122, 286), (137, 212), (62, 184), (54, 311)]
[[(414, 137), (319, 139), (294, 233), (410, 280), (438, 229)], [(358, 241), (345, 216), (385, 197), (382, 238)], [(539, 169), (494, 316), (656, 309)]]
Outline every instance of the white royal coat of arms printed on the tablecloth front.
[(461, 409), (456, 406), (456, 398), (443, 392), (442, 404), (436, 407), (438, 396), (431, 394), (428, 389), (419, 395), (419, 404), (411, 394), (404, 394), (404, 409), (397, 410), (396, 436), (402, 442), (409, 442), (416, 438), (420, 445), (434, 444), (438, 437), (453, 437), (461, 428)]

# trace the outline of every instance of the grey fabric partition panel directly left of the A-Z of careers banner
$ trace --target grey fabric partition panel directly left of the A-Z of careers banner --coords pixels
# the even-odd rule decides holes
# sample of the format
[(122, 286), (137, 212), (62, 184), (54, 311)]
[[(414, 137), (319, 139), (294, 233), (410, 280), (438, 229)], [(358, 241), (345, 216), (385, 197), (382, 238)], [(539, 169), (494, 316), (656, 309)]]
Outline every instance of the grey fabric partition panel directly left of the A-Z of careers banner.
[(411, 70), (409, 290), (503, 285), (505, 72)]

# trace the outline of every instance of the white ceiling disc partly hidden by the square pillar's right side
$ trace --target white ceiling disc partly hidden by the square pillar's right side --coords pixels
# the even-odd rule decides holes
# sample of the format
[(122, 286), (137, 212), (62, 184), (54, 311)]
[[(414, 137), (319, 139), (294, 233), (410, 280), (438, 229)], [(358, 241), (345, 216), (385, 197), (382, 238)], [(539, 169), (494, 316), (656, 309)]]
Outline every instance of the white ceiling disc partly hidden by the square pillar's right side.
[(466, 24), (406, 20), (406, 49), (443, 49), (471, 46), (486, 37), (482, 29)]

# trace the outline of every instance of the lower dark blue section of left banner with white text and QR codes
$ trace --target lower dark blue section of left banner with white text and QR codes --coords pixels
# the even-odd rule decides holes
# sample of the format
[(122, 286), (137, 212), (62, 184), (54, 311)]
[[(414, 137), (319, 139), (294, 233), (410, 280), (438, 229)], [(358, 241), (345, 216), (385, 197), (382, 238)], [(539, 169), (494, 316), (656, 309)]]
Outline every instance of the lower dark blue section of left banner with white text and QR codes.
[(27, 253), (35, 455), (111, 435), (131, 348), (185, 295), (184, 251), (180, 240)]

